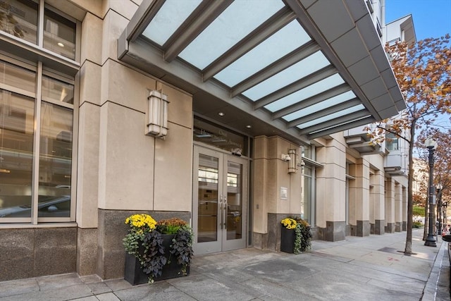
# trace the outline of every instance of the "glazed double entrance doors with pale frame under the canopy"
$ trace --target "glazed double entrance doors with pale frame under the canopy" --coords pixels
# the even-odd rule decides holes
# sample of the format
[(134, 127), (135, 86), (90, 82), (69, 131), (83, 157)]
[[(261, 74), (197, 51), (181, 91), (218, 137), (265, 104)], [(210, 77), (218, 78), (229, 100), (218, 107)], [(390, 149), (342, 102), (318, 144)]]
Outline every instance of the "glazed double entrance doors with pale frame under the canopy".
[(194, 146), (194, 254), (246, 247), (247, 160)]

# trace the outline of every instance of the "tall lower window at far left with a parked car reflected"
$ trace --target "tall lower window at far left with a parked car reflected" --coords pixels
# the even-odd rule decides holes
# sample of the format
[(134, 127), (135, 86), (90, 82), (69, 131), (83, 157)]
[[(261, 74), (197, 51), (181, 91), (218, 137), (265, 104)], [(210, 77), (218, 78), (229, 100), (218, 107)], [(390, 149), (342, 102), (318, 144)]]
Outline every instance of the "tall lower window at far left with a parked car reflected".
[(2, 60), (0, 78), (0, 221), (73, 220), (74, 80)]

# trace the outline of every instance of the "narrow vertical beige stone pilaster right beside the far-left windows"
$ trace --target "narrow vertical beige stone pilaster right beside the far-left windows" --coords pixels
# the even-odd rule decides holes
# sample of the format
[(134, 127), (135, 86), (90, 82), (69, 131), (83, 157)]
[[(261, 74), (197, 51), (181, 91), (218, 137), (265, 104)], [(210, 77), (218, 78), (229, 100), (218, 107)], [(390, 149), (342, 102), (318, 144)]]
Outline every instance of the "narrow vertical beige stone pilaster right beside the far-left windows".
[(82, 20), (76, 211), (80, 228), (97, 227), (102, 26), (103, 20), (89, 11)]

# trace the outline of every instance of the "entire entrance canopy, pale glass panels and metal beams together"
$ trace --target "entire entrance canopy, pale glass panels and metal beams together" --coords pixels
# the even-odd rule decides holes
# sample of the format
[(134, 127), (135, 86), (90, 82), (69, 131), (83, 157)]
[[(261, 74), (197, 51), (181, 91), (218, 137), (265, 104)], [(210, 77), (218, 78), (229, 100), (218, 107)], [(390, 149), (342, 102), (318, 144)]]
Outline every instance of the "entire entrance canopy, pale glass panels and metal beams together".
[[(306, 9), (306, 6), (321, 4), (328, 9), (329, 6), (336, 6), (330, 9), (340, 13), (343, 6), (352, 4), (317, 1), (312, 5), (303, 2), (144, 1), (142, 6), (145, 7), (140, 7), (130, 21), (132, 28), (128, 28), (123, 35), (133, 32), (125, 37), (127, 43), (144, 41), (149, 44), (149, 49), (153, 47), (161, 51), (156, 52), (160, 54), (155, 56), (160, 56), (161, 62), (147, 59), (148, 70), (171, 74), (168, 78), (175, 78), (175, 81), (180, 78), (200, 89), (206, 83), (214, 82), (215, 87), (221, 90), (218, 95), (227, 92), (230, 95), (220, 97), (224, 102), (240, 106), (239, 102), (245, 101), (252, 108), (250, 113), (253, 116), (259, 116), (267, 123), (278, 121), (279, 128), (282, 122), (286, 130), (297, 130), (300, 135), (310, 138), (381, 120), (384, 116), (378, 113), (380, 109), (388, 110), (387, 114), (393, 115), (404, 109), (400, 104), (400, 100), (404, 103), (402, 96), (397, 94), (399, 87), (395, 93), (390, 93), (391, 87), (381, 86), (379, 81), (376, 83), (381, 79), (383, 82), (393, 80), (390, 75), (388, 79), (377, 75), (377, 78), (357, 85), (357, 82), (362, 82), (357, 80), (357, 73), (362, 73), (363, 68), (356, 68), (357, 64), (348, 61), (352, 61), (354, 56), (372, 58), (370, 49), (365, 48), (362, 53), (357, 53), (359, 47), (348, 45), (350, 52), (356, 52), (347, 59), (345, 51), (340, 54), (340, 45), (333, 49), (333, 43), (327, 40), (328, 32), (321, 32), (321, 28), (315, 31), (316, 27), (324, 27), (330, 32), (352, 32), (359, 30), (357, 25), (354, 24), (351, 29), (345, 28), (347, 24), (343, 20), (336, 27), (330, 25), (328, 28), (328, 20), (322, 20), (321, 13), (309, 16)], [(330, 5), (326, 6), (325, 2)], [(358, 13), (366, 18), (363, 19), (372, 25), (368, 12), (360, 6), (358, 9)], [(346, 13), (349, 11), (357, 16), (357, 7), (346, 8)], [(362, 19), (362, 16), (358, 18)], [(360, 30), (359, 37), (367, 35), (377, 39), (376, 43), (372, 40), (371, 44), (376, 44), (374, 49), (382, 49), (374, 32), (370, 35)], [(336, 41), (340, 39), (342, 37)], [(122, 42), (119, 42), (121, 45)], [(363, 40), (357, 42), (366, 43)], [(374, 49), (372, 51), (376, 53)], [(120, 59), (130, 59), (127, 57), (130, 51), (130, 47), (124, 49), (125, 56), (120, 54)], [(152, 50), (133, 56), (149, 54)], [(382, 68), (390, 68), (384, 59), (381, 62), (373, 59), (377, 74)], [(136, 65), (143, 68), (141, 62)]]

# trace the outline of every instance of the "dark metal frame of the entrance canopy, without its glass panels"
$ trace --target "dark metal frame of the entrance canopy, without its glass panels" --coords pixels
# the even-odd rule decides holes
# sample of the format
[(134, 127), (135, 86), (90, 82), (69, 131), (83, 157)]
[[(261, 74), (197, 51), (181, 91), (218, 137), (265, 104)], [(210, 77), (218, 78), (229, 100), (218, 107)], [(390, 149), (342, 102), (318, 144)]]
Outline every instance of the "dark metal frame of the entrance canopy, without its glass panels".
[[(318, 2), (320, 1), (322, 0), (319, 0)], [(404, 99), (399, 91), (399, 87), (397, 87), (393, 71), (390, 68), (381, 43), (376, 43), (376, 47), (373, 47), (373, 49), (367, 49), (369, 61), (375, 62), (375, 68), (378, 69), (376, 70), (378, 76), (370, 82), (357, 82), (359, 79), (355, 78), (355, 75), (352, 74), (352, 66), (345, 66), (345, 62), (338, 55), (338, 52), (334, 49), (332, 43), (328, 40), (328, 37), (326, 37), (321, 31), (321, 28), (319, 28), (321, 22), (315, 22), (309, 13), (308, 8), (312, 7), (315, 1), (284, 0), (284, 8), (266, 22), (259, 25), (256, 30), (249, 34), (245, 39), (242, 39), (239, 43), (235, 44), (235, 46), (218, 57), (214, 62), (210, 63), (204, 70), (193, 68), (193, 66), (190, 66), (177, 56), (233, 1), (202, 1), (191, 16), (185, 20), (171, 38), (160, 48), (142, 37), (141, 34), (152, 21), (152, 18), (154, 18), (159, 8), (163, 6), (164, 2), (164, 0), (142, 1), (135, 16), (130, 20), (130, 23), (118, 39), (118, 59), (130, 63), (132, 66), (140, 68), (154, 75), (156, 78), (161, 78), (166, 82), (177, 85), (178, 87), (187, 90), (187, 92), (203, 90), (204, 92), (235, 106), (237, 109), (246, 111), (252, 116), (259, 118), (259, 120), (271, 124), (273, 127), (282, 130), (297, 141), (308, 142), (315, 137), (330, 135), (330, 133), (337, 133), (340, 130), (372, 123), (383, 118), (388, 118), (391, 116), (390, 114), (394, 115), (397, 111), (405, 108)], [(362, 5), (364, 6), (364, 1), (362, 1)], [(366, 10), (366, 6), (364, 6), (364, 9)], [(368, 11), (364, 13), (362, 7), (354, 8), (354, 11), (351, 13), (354, 15), (354, 18), (359, 16), (359, 19), (355, 21), (356, 23), (362, 24), (362, 19), (364, 18), (369, 19), (365, 20), (366, 23), (368, 23), (368, 21), (371, 22)], [(249, 51), (249, 49), (252, 49), (294, 19), (296, 19), (311, 36), (311, 42), (302, 45), (302, 47), (292, 51), (290, 54), (275, 61), (271, 65), (266, 66), (266, 68), (263, 68), (249, 78), (242, 80), (242, 82), (234, 87), (227, 87), (221, 82), (218, 82), (215, 78), (212, 78), (216, 73), (223, 70), (223, 68), (226, 68), (230, 63), (233, 63), (233, 61)], [(364, 26), (360, 27), (361, 30), (362, 28), (368, 30), (368, 24), (366, 23)], [(355, 26), (357, 27), (357, 25)], [(373, 35), (373, 39), (378, 39), (376, 30), (374, 27), (371, 27), (369, 32), (362, 33), (362, 44), (369, 44), (365, 41), (365, 39), (369, 39), (368, 35)], [(374, 44), (373, 40), (371, 40), (371, 43)], [(240, 94), (249, 89), (249, 87), (253, 87), (259, 82), (270, 78), (280, 70), (292, 66), (292, 64), (301, 61), (315, 51), (319, 51), (319, 49), (321, 49), (333, 66), (321, 68), (321, 70), (311, 73), (311, 75), (308, 75), (306, 78), (302, 78), (302, 80), (293, 82), (276, 92), (261, 97), (261, 99), (258, 99), (255, 102), (250, 101), (247, 97)], [(384, 54), (383, 59), (385, 59), (385, 61), (382, 59), (382, 64), (377, 64), (376, 61), (381, 61), (381, 51)], [(365, 57), (365, 59), (367, 58)], [(368, 62), (364, 61), (364, 63)], [(387, 72), (387, 68), (390, 68), (390, 72)], [(280, 97), (312, 85), (314, 82), (318, 82), (335, 73), (339, 73), (346, 83), (333, 87), (330, 90), (326, 90), (321, 94), (304, 99), (302, 102), (297, 102), (296, 104), (280, 109), (279, 111), (271, 112), (263, 108), (266, 104), (270, 104), (271, 102), (280, 99)], [(396, 85), (395, 89), (393, 89), (393, 82), (395, 82)], [(391, 87), (389, 87), (390, 85)], [(350, 99), (350, 101), (343, 104), (330, 106), (322, 111), (317, 111), (314, 116), (304, 116), (290, 122), (282, 119), (282, 117), (288, 113), (319, 103), (324, 99), (328, 99), (349, 90), (352, 90), (357, 97)], [(384, 93), (381, 93), (380, 90), (383, 90)], [(374, 91), (377, 91), (377, 95), (374, 94)], [(369, 99), (368, 94), (371, 94), (372, 99)], [(388, 103), (385, 100), (387, 95), (389, 99), (391, 99)], [(334, 112), (334, 110), (349, 108), (359, 102), (364, 105), (365, 109), (346, 116), (341, 116), (340, 118), (335, 118), (332, 121), (319, 123), (318, 125), (309, 128), (297, 128), (297, 125), (300, 123), (312, 121), (314, 118), (319, 118), (321, 116), (327, 116)]]

